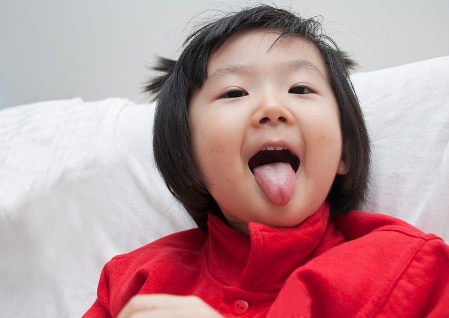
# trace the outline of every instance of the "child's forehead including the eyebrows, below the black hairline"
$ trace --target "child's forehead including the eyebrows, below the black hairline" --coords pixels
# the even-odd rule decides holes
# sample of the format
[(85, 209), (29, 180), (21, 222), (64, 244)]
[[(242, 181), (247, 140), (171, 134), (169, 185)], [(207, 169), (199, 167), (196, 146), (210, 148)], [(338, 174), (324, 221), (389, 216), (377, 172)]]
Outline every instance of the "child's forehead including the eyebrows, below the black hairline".
[(279, 38), (280, 32), (267, 29), (246, 29), (230, 36), (225, 43), (209, 56), (208, 75), (226, 66), (247, 68), (251, 65), (270, 67), (309, 67), (321, 73), (327, 80), (326, 67), (318, 48), (299, 35)]

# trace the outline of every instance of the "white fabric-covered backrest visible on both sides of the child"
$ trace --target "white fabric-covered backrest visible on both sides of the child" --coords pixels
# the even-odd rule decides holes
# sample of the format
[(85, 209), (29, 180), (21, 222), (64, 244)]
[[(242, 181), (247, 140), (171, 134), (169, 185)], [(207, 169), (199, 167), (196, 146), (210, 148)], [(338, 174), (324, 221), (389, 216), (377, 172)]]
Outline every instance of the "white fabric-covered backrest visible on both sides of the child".
[[(449, 57), (354, 75), (373, 142), (370, 200), (449, 241)], [(80, 317), (114, 255), (194, 223), (152, 157), (154, 105), (0, 111), (0, 308)]]

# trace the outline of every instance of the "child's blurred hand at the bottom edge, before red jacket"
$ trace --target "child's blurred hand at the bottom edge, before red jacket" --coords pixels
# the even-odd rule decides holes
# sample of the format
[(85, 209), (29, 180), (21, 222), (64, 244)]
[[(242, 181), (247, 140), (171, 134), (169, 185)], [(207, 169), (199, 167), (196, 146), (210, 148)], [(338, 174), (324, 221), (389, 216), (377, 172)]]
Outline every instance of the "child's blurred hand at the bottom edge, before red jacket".
[(117, 318), (207, 317), (223, 318), (196, 296), (167, 294), (137, 295), (123, 307)]

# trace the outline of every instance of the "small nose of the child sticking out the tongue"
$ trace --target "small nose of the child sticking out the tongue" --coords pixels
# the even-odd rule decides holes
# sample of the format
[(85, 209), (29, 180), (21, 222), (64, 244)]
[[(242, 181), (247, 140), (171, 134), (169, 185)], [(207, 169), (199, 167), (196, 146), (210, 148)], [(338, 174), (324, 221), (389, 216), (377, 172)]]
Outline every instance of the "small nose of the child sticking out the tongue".
[(292, 113), (282, 98), (264, 95), (263, 98), (257, 101), (257, 104), (252, 119), (254, 126), (277, 125), (280, 123), (290, 124), (294, 120)]

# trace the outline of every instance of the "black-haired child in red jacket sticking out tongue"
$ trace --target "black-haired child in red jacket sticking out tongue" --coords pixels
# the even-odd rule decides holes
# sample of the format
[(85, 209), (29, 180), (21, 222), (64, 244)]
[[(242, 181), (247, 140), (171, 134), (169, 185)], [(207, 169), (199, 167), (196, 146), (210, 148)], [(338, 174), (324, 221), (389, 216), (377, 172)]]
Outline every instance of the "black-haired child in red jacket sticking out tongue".
[(265, 5), (161, 59), (155, 159), (199, 229), (114, 257), (84, 317), (449, 317), (442, 239), (350, 212), (370, 157), (352, 66)]

